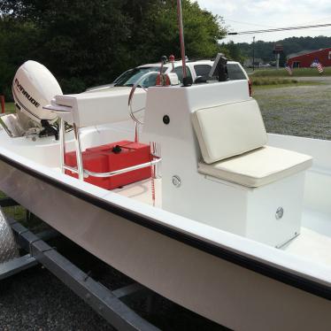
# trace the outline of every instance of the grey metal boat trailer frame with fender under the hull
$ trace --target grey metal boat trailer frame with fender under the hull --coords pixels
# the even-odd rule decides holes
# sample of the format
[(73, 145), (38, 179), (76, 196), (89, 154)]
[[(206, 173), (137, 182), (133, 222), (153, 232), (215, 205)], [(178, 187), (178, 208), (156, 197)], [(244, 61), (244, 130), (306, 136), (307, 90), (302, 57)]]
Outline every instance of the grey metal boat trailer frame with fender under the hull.
[[(149, 321), (143, 319), (125, 304), (125, 300), (131, 296), (145, 296), (150, 299), (148, 302), (151, 303), (154, 293), (150, 289), (138, 283), (115, 290), (107, 289), (102, 283), (92, 279), (89, 273), (84, 273), (79, 267), (73, 265), (71, 261), (46, 242), (57, 236), (58, 233), (55, 230), (47, 230), (35, 235), (23, 227), (19, 221), (6, 217), (2, 208), (16, 205), (19, 204), (11, 198), (0, 199), (0, 239), (4, 239), (4, 235), (8, 235), (8, 231), (4, 234), (5, 227), (12, 229), (17, 246), (27, 253), (12, 258), (15, 252), (8, 248), (8, 245), (3, 251), (0, 251), (0, 281), (40, 264), (64, 282), (69, 289), (72, 289), (94, 311), (106, 319), (112, 327), (130, 331), (159, 330), (158, 327), (150, 324)], [(9, 259), (1, 263), (1, 257), (4, 255)], [(148, 305), (150, 306), (148, 309), (151, 308), (151, 304)]]

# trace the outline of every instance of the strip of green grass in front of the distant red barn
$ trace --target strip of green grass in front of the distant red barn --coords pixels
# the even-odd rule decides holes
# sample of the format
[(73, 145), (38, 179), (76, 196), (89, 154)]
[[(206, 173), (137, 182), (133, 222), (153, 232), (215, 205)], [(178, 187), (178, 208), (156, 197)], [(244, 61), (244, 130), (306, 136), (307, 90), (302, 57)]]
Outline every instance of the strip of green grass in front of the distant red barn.
[(319, 73), (316, 68), (298, 68), (293, 69), (293, 75), (289, 76), (289, 73), (284, 69), (279, 70), (275, 68), (262, 68), (257, 69), (253, 73), (249, 73), (250, 77), (323, 77), (331, 76), (331, 67), (324, 68), (324, 73)]

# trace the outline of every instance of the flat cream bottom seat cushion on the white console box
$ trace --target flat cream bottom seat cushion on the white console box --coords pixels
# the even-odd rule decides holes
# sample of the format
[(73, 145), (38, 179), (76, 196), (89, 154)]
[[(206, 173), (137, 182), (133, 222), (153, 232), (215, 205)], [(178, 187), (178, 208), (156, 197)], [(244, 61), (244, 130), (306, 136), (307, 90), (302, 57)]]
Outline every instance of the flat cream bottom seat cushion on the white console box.
[(265, 146), (212, 165), (199, 163), (198, 171), (220, 180), (257, 188), (304, 171), (311, 165), (310, 156)]

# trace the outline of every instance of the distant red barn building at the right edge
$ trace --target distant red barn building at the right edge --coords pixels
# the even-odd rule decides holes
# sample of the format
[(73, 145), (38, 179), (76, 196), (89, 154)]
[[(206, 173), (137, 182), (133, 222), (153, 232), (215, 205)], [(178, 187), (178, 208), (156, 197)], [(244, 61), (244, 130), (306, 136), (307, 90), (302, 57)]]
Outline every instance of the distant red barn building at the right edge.
[(288, 65), (292, 68), (309, 68), (318, 62), (323, 66), (331, 66), (331, 48), (306, 51), (288, 58)]

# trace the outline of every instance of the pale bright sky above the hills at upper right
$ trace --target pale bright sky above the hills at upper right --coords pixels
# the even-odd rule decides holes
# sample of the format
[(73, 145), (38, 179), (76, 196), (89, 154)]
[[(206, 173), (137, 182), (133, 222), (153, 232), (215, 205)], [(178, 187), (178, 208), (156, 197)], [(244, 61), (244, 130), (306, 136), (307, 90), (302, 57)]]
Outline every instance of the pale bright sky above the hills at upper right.
[[(196, 0), (201, 8), (224, 19), (231, 32), (276, 27), (331, 24), (331, 0)], [(275, 42), (291, 36), (331, 36), (331, 27), (256, 34), (256, 41)], [(228, 42), (252, 42), (253, 35), (229, 35)]]

